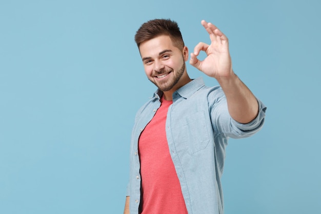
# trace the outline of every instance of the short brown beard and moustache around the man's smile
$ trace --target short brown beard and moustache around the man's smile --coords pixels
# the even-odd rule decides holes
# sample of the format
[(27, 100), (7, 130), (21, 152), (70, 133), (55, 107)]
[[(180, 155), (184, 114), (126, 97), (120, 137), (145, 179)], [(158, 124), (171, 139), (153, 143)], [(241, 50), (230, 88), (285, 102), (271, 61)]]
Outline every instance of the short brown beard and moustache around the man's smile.
[(164, 82), (155, 82), (154, 80), (151, 80), (151, 79), (149, 79), (149, 80), (155, 86), (157, 86), (157, 88), (160, 91), (169, 91), (178, 83), (180, 77), (182, 77), (182, 75), (184, 73), (184, 70), (185, 70), (185, 62), (183, 61), (182, 67), (175, 73), (174, 73), (173, 69), (168, 69), (168, 70), (164, 69), (163, 71), (157, 72), (157, 73), (159, 73), (158, 75), (163, 74), (163, 73), (172, 72), (173, 76), (172, 76), (172, 78), (170, 80), (167, 80), (167, 81), (164, 81)]

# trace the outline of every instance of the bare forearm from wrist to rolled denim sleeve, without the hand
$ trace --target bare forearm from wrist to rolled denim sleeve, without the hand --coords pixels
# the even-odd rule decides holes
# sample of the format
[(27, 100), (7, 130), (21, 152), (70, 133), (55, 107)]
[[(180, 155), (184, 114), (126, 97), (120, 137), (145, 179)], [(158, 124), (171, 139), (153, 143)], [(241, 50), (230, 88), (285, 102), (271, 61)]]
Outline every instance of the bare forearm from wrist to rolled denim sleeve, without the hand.
[(250, 89), (232, 73), (216, 79), (222, 87), (231, 117), (239, 123), (249, 123), (258, 113), (258, 103)]

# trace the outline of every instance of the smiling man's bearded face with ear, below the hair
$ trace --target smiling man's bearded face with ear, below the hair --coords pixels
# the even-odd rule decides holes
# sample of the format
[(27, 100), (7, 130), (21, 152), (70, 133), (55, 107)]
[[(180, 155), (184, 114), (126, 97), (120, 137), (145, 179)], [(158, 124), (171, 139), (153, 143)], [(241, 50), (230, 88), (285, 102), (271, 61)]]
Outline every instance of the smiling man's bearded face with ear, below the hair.
[(178, 89), (179, 82), (186, 73), (185, 61), (188, 60), (188, 50), (179, 50), (167, 35), (160, 35), (143, 42), (139, 46), (144, 68), (148, 79), (159, 90)]

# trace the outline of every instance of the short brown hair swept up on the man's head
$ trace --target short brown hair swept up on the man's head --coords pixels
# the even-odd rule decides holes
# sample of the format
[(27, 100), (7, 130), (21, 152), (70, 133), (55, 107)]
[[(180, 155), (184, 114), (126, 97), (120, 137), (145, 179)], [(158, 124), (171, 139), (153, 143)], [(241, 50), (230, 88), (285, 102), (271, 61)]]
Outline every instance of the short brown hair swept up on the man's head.
[(175, 47), (184, 48), (182, 33), (180, 33), (178, 24), (170, 19), (155, 19), (144, 23), (135, 34), (137, 47), (143, 42), (151, 40), (159, 35), (168, 35)]

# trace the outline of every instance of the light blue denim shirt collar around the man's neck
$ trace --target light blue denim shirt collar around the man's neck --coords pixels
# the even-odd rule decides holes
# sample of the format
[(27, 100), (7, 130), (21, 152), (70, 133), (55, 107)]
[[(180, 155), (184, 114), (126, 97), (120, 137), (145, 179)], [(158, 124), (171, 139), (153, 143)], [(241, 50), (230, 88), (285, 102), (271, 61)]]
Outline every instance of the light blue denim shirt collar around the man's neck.
[[(191, 82), (187, 83), (186, 85), (180, 87), (173, 93), (173, 101), (176, 100), (174, 99), (174, 96), (178, 94), (182, 98), (188, 99), (191, 95), (193, 95), (198, 89), (202, 88), (205, 86), (203, 77), (198, 77), (197, 79), (192, 80)], [(160, 91), (157, 89), (153, 96), (159, 100), (163, 95), (163, 91)]]

